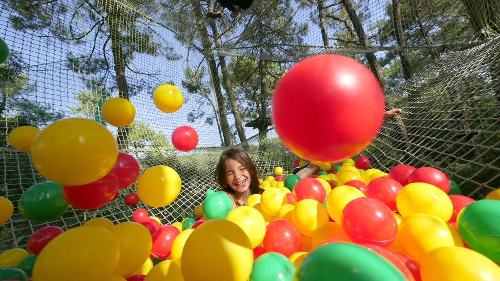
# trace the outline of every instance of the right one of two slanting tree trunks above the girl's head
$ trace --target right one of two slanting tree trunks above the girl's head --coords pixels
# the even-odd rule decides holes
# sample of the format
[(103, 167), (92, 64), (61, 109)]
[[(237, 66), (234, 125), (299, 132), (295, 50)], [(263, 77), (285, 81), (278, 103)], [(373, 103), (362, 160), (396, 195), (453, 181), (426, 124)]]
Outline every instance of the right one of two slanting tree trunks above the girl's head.
[[(208, 10), (212, 11), (210, 3), (208, 3)], [(217, 50), (222, 48), (222, 43), (219, 38), (219, 33), (217, 30), (217, 26), (215, 25), (215, 21), (210, 19), (210, 26), (212, 28), (213, 37), (217, 38), (215, 40), (215, 45), (217, 46)], [(236, 131), (238, 133), (239, 141), (242, 143), (244, 148), (248, 148), (248, 143), (246, 142), (245, 130), (243, 128), (243, 124), (241, 122), (241, 115), (239, 114), (239, 107), (236, 103), (236, 95), (234, 94), (234, 90), (232, 89), (231, 80), (229, 71), (227, 70), (227, 65), (225, 64), (225, 56), (218, 56), (220, 69), (222, 70), (222, 79), (224, 80), (223, 86), (227, 96), (229, 97), (229, 103), (231, 104), (231, 112), (234, 116), (234, 123), (236, 125)]]

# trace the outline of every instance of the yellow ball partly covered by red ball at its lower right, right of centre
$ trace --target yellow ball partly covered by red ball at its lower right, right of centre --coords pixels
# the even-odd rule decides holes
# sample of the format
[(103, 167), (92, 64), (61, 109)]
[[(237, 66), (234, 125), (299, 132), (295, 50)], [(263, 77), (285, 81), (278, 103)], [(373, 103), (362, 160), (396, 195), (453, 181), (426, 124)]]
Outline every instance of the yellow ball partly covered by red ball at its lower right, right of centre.
[(331, 219), (340, 223), (340, 216), (345, 205), (353, 199), (359, 197), (366, 196), (364, 196), (363, 192), (359, 191), (359, 189), (352, 186), (339, 185), (331, 189), (330, 193), (328, 193), (328, 196), (326, 197), (326, 210), (328, 211)]

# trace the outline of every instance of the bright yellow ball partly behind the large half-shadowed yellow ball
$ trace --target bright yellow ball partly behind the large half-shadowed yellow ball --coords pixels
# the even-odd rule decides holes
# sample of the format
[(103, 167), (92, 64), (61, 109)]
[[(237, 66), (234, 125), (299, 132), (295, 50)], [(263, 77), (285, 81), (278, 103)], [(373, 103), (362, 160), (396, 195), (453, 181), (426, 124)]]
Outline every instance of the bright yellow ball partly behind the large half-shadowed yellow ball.
[(265, 220), (258, 210), (249, 206), (239, 206), (230, 211), (225, 219), (236, 223), (243, 229), (252, 248), (264, 240)]

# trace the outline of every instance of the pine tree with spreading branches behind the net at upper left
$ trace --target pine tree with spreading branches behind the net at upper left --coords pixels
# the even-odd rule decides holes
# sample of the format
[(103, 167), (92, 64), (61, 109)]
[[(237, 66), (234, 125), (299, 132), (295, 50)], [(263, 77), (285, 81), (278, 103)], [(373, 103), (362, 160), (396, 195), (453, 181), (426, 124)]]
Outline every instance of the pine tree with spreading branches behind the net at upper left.
[[(114, 76), (113, 87), (117, 90), (118, 96), (125, 99), (140, 91), (140, 81), (131, 84), (125, 75), (126, 70), (138, 73), (130, 67), (135, 53), (162, 55), (167, 59), (179, 58), (165, 42), (156, 41), (154, 39), (156, 31), (147, 22), (143, 22), (144, 16), (157, 8), (155, 0), (142, 2), (6, 0), (6, 2), (18, 14), (10, 16), (15, 29), (47, 30), (53, 38), (62, 42), (74, 44), (92, 42), (93, 47), (89, 53), (80, 55), (68, 53), (68, 66), (74, 71), (83, 70), (85, 75), (107, 74), (113, 69), (111, 71)], [(70, 19), (68, 23), (64, 22), (66, 18)], [(88, 25), (79, 24), (80, 20)], [(85, 28), (87, 26), (90, 27)], [(112, 66), (108, 61), (109, 51)], [(119, 149), (127, 147), (128, 131), (126, 126), (118, 128)]]

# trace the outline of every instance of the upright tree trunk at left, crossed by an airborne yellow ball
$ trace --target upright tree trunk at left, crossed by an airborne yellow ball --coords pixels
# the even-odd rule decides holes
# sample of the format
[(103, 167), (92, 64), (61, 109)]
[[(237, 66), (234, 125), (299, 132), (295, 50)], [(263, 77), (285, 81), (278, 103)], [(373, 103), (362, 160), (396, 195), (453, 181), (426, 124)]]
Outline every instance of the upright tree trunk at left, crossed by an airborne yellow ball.
[[(108, 14), (109, 36), (111, 39), (111, 52), (113, 54), (114, 72), (116, 75), (116, 85), (118, 87), (118, 95), (121, 98), (129, 99), (128, 84), (125, 77), (125, 61), (123, 54), (123, 45), (121, 43), (121, 34), (118, 29), (120, 22), (120, 11), (114, 2), (109, 2), (105, 5)], [(118, 149), (124, 150), (128, 147), (128, 126), (118, 127), (116, 141)]]

